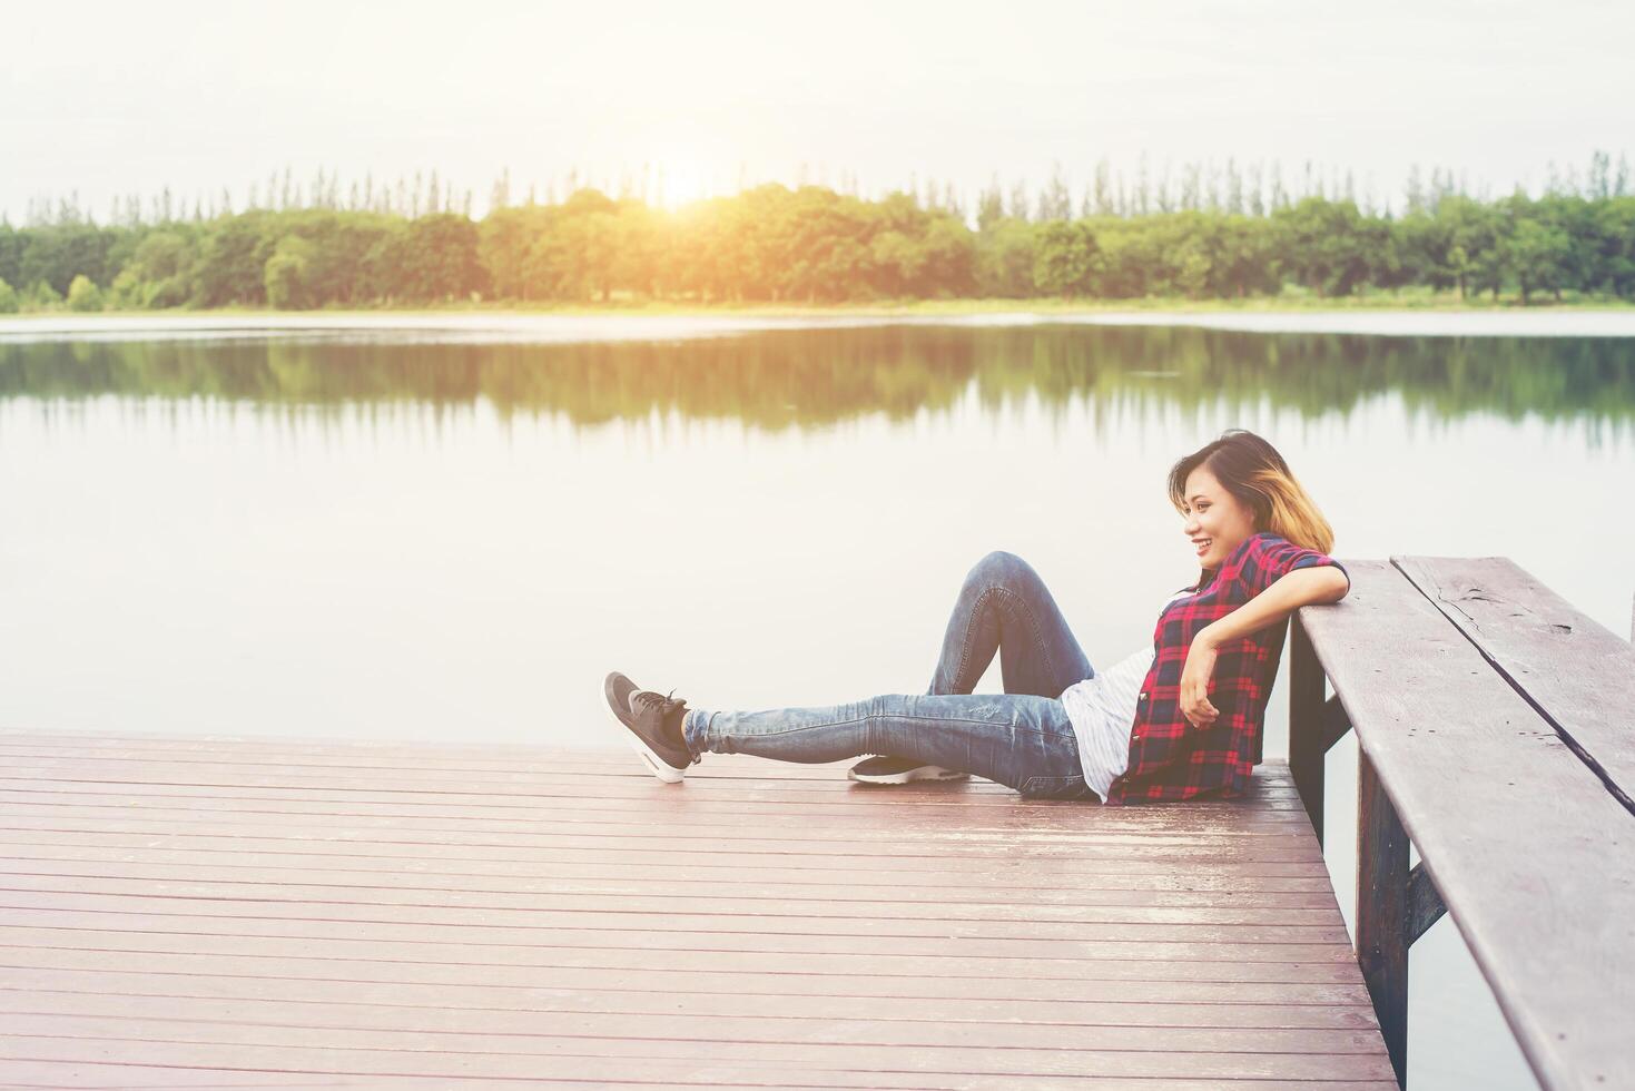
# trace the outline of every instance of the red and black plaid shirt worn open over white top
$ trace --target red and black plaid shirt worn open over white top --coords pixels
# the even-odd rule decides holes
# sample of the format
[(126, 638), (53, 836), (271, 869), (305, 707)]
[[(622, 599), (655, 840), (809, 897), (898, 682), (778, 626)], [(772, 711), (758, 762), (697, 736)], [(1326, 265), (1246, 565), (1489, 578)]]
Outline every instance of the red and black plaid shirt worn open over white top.
[(1203, 730), (1194, 728), (1180, 712), (1187, 649), (1198, 630), (1282, 576), (1321, 564), (1346, 572), (1346, 566), (1326, 553), (1262, 532), (1241, 541), (1213, 574), (1203, 569), (1198, 582), (1187, 589), (1203, 587), (1202, 592), (1164, 607), (1153, 630), (1153, 667), (1136, 698), (1130, 769), (1113, 780), (1107, 803), (1190, 800), (1216, 790), (1223, 798), (1243, 795), (1254, 770), (1256, 741), (1288, 623), (1279, 622), (1220, 646), (1210, 680), (1210, 703), (1220, 716)]

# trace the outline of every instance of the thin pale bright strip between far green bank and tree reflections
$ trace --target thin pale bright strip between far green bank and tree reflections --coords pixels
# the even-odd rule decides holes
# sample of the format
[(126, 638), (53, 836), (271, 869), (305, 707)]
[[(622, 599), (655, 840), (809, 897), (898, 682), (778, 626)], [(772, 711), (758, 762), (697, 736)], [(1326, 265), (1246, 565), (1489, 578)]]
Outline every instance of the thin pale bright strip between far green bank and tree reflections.
[(404, 311), (136, 311), (0, 316), (0, 342), (98, 340), (132, 335), (448, 334), (494, 342), (669, 340), (778, 329), (871, 326), (1185, 326), (1259, 334), (1396, 337), (1635, 337), (1635, 308), (1100, 308), (960, 301), (904, 308), (404, 309)]

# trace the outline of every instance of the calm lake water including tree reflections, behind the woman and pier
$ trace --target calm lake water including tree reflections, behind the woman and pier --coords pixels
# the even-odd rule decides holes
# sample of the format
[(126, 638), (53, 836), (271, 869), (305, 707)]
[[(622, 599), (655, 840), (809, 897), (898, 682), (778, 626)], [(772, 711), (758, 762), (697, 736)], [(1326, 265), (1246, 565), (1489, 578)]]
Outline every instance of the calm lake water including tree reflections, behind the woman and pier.
[[(1169, 465), (1234, 425), (1342, 559), (1504, 554), (1628, 633), (1635, 340), (670, 334), (0, 337), (0, 730), (621, 746), (615, 667), (922, 692), (996, 548), (1112, 662), (1197, 574)], [(1329, 777), (1349, 919), (1352, 743)], [(1452, 921), (1413, 959), (1411, 1083), (1532, 1088)]]

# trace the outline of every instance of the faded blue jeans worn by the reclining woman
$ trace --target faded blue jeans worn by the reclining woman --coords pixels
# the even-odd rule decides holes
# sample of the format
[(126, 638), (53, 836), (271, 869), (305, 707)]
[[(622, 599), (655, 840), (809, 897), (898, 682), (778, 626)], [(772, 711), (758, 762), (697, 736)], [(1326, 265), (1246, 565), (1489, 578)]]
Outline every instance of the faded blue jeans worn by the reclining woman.
[[(1004, 694), (973, 694), (999, 653)], [(688, 710), (693, 754), (755, 754), (832, 762), (894, 754), (960, 769), (1024, 797), (1095, 800), (1079, 744), (1056, 700), (1095, 671), (1038, 572), (994, 551), (966, 574), (925, 694), (881, 694), (847, 705), (764, 712)]]

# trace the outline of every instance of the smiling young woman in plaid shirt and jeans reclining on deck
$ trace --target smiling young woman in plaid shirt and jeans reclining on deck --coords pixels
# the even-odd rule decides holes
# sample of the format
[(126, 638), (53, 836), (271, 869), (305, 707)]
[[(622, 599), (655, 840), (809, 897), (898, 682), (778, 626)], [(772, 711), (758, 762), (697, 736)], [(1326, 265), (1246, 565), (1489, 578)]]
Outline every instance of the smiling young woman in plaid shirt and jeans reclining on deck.
[[(976, 774), (1028, 798), (1241, 795), (1283, 620), (1346, 597), (1351, 577), (1328, 556), (1328, 520), (1282, 455), (1251, 432), (1231, 429), (1177, 461), (1169, 499), (1202, 572), (1164, 604), (1153, 646), (1107, 671), (1091, 667), (1038, 574), (996, 551), (960, 589), (927, 694), (711, 712), (639, 690), (615, 671), (608, 705), (669, 782), (705, 751), (793, 762), (880, 754), (881, 777)], [(1006, 692), (973, 694), (996, 651)]]

